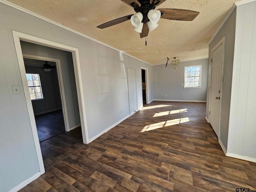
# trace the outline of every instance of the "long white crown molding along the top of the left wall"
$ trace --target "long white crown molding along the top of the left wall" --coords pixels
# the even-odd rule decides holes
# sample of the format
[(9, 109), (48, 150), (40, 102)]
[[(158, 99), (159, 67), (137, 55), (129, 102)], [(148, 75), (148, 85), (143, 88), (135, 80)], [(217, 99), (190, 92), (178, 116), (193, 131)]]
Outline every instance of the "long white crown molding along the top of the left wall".
[(45, 17), (41, 16), (41, 15), (38, 15), (38, 14), (36, 14), (36, 13), (30, 11), (30, 10), (27, 10), (27, 9), (25, 9), (25, 8), (22, 8), (22, 7), (20, 7), (20, 6), (16, 5), (16, 4), (13, 4), (13, 3), (8, 2), (8, 1), (6, 1), (6, 0), (0, 0), (0, 3), (3, 3), (3, 4), (5, 4), (5, 5), (7, 5), (7, 6), (10, 6), (10, 7), (15, 8), (15, 9), (17, 9), (17, 10), (20, 10), (20, 11), (22, 11), (22, 12), (25, 12), (25, 13), (30, 14), (30, 15), (32, 15), (32, 16), (35, 16), (35, 17), (37, 17), (37, 18), (40, 18), (40, 19), (42, 19), (42, 20), (44, 20), (44, 21), (46, 21), (46, 22), (49, 22), (49, 23), (51, 23), (51, 24), (54, 24), (54, 25), (56, 25), (56, 26), (59, 26), (59, 27), (61, 27), (61, 28), (66, 29), (66, 30), (69, 30), (69, 31), (71, 31), (71, 32), (73, 32), (73, 33), (76, 33), (76, 34), (78, 34), (78, 35), (80, 35), (80, 36), (83, 36), (83, 37), (85, 37), (85, 38), (88, 38), (88, 39), (90, 39), (90, 40), (93, 40), (93, 41), (95, 41), (95, 42), (97, 42), (97, 43), (100, 43), (100, 44), (102, 44), (102, 45), (104, 45), (104, 46), (107, 46), (107, 47), (109, 47), (109, 48), (112, 48), (112, 49), (114, 49), (114, 50), (116, 50), (116, 51), (118, 51), (118, 52), (121, 52), (121, 53), (123, 53), (123, 54), (126, 54), (127, 56), (130, 56), (130, 57), (132, 57), (132, 58), (134, 58), (134, 59), (137, 59), (137, 60), (139, 60), (139, 61), (142, 61), (142, 62), (144, 62), (144, 63), (149, 64), (149, 65), (152, 66), (152, 64), (150, 64), (150, 63), (148, 63), (148, 62), (145, 62), (145, 61), (143, 61), (143, 60), (141, 60), (141, 59), (139, 59), (139, 58), (136, 58), (136, 57), (134, 57), (134, 56), (132, 56), (132, 55), (130, 55), (130, 54), (128, 54), (128, 53), (122, 51), (122, 50), (118, 50), (117, 48), (114, 48), (114, 47), (112, 47), (112, 46), (110, 46), (110, 45), (108, 45), (108, 44), (105, 44), (105, 43), (103, 43), (103, 42), (101, 42), (101, 41), (99, 41), (99, 40), (96, 40), (96, 39), (94, 39), (94, 38), (91, 38), (91, 37), (89, 37), (89, 36), (87, 36), (87, 35), (85, 35), (85, 34), (82, 34), (82, 33), (78, 32), (78, 31), (76, 31), (76, 30), (73, 30), (73, 29), (71, 29), (71, 28), (68, 28), (68, 27), (66, 27), (66, 26), (64, 26), (64, 25), (62, 25), (62, 24), (59, 24), (59, 23), (57, 23), (57, 22), (55, 22), (55, 21), (52, 21), (52, 20), (50, 20), (50, 19), (48, 19), (48, 18), (45, 18)]

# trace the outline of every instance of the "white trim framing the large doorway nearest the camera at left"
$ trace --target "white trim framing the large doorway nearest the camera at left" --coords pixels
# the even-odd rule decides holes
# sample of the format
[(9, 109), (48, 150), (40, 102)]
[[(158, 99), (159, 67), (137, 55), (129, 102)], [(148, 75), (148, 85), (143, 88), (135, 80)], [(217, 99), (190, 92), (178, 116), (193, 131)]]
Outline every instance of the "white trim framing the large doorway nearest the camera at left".
[(20, 40), (38, 44), (38, 45), (42, 45), (42, 46), (56, 48), (59, 50), (72, 52), (75, 80), (76, 80), (76, 90), (77, 90), (77, 95), (78, 95), (78, 106), (79, 106), (79, 113), (80, 113), (80, 120), (81, 120), (81, 127), (82, 127), (82, 137), (83, 137), (83, 142), (85, 144), (88, 144), (89, 143), (88, 127), (87, 127), (87, 121), (86, 121), (84, 90), (83, 90), (83, 85), (82, 85), (82, 74), (81, 74), (81, 68), (80, 68), (79, 52), (78, 52), (78, 48), (74, 48), (74, 47), (67, 46), (64, 44), (59, 44), (56, 42), (52, 42), (49, 40), (31, 36), (28, 34), (12, 31), (12, 35), (13, 35), (13, 39), (14, 39), (16, 55), (18, 58), (20, 75), (21, 75), (21, 79), (22, 79), (22, 85), (24, 88), (26, 105), (28, 108), (28, 115), (30, 118), (30, 124), (31, 124), (31, 129), (32, 129), (32, 135), (34, 138), (34, 145), (36, 148), (36, 155), (37, 155), (37, 159), (38, 159), (40, 174), (42, 175), (45, 172), (44, 162), (43, 162), (43, 158), (42, 158), (42, 152), (41, 152), (38, 133), (37, 133), (37, 129), (36, 129), (36, 120), (34, 117), (34, 111), (33, 111), (32, 102), (30, 99), (30, 95), (29, 95), (27, 80), (26, 80), (26, 70), (25, 70)]

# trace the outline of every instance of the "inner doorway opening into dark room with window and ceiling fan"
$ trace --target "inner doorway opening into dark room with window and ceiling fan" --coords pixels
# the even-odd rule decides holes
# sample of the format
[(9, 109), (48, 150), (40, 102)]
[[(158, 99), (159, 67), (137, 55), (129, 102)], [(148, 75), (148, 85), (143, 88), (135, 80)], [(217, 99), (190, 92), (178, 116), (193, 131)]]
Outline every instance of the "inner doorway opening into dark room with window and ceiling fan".
[(49, 61), (51, 58), (46, 58), (47, 60), (35, 58), (36, 56), (23, 55), (30, 99), (41, 143), (64, 133), (67, 128), (64, 122), (57, 64)]

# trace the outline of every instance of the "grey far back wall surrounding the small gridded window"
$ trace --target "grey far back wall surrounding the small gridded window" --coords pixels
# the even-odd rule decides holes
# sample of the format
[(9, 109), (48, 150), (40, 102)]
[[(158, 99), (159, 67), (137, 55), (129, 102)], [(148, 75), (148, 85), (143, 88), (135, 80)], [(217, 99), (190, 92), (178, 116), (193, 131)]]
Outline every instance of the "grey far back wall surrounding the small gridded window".
[[(201, 88), (185, 88), (184, 66), (202, 65)], [(153, 66), (154, 99), (206, 101), (208, 59), (180, 62), (178, 69), (165, 64)], [(165, 96), (167, 95), (167, 97)]]

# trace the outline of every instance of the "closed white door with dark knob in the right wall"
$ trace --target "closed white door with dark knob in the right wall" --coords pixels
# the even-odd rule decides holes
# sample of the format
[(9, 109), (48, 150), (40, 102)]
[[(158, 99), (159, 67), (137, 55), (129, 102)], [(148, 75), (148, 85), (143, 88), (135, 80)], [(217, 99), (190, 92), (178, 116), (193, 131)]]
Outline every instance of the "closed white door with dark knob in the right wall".
[(218, 137), (220, 134), (220, 96), (222, 91), (223, 52), (223, 43), (216, 50), (214, 50), (214, 52), (212, 52), (210, 124)]

